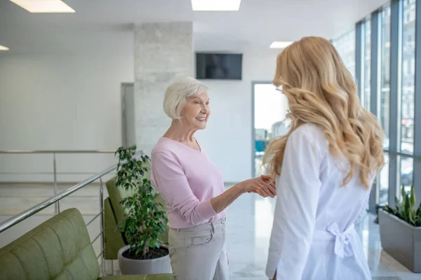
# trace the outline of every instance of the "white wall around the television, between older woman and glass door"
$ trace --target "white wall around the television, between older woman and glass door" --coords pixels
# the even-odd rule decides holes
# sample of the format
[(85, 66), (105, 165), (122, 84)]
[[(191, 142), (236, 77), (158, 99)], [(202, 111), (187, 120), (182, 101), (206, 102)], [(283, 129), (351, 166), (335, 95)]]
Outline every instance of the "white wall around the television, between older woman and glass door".
[(246, 48), (242, 80), (202, 80), (210, 89), (210, 120), (197, 138), (226, 182), (252, 176), (252, 82), (272, 81), (277, 50)]

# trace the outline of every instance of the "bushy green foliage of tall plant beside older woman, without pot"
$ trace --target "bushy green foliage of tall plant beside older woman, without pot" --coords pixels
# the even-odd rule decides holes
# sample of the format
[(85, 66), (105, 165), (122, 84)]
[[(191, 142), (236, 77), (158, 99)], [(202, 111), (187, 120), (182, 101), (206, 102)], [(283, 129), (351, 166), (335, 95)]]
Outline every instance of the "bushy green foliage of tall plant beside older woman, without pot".
[(159, 240), (166, 231), (167, 218), (154, 202), (154, 186), (145, 178), (149, 157), (136, 156), (136, 146), (120, 147), (117, 154), (116, 187), (133, 193), (121, 200), (125, 214), (118, 227), (130, 246), (123, 252), (123, 257), (150, 260), (168, 255), (168, 250), (160, 247)]

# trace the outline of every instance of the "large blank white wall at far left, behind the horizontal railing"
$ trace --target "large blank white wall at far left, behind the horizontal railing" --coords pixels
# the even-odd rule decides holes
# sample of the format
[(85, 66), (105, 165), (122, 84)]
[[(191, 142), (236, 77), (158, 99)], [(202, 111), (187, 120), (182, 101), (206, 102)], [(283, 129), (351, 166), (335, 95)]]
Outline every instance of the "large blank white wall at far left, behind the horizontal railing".
[[(121, 83), (133, 82), (133, 41), (131, 36), (127, 38), (117, 50), (107, 52), (1, 54), (0, 150), (118, 148)], [(57, 164), (59, 172), (99, 172), (114, 162), (114, 155), (58, 155)], [(51, 155), (0, 154), (0, 172), (52, 170)], [(0, 174), (0, 181), (51, 178)]]

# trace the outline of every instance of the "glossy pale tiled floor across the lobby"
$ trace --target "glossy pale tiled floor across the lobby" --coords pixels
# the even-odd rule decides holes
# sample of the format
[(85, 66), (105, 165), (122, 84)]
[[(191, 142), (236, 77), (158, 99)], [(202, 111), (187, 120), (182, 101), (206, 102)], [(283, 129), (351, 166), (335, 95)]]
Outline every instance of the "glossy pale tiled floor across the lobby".
[[(0, 223), (10, 218), (11, 214), (32, 207), (38, 203), (38, 200), (45, 200), (49, 196), (51, 196), (51, 186), (11, 187), (0, 185)], [(27, 197), (30, 197), (30, 201), (27, 200)], [(70, 205), (71, 202), (74, 202), (74, 205)], [(239, 197), (227, 209), (227, 249), (231, 280), (267, 280), (265, 266), (272, 229), (274, 202), (274, 199), (263, 199), (258, 195), (246, 194)], [(81, 209), (86, 221), (89, 221), (93, 214), (98, 213), (98, 186), (81, 190), (73, 198), (69, 198), (63, 207)], [(0, 247), (45, 221), (51, 214), (53, 214), (53, 209), (46, 209), (15, 229), (3, 232), (0, 234)], [(382, 251), (379, 228), (373, 223), (373, 220), (374, 216), (367, 216), (363, 223), (356, 227), (366, 251), (373, 279), (421, 279), (421, 274), (411, 273), (406, 267)], [(98, 235), (98, 228), (99, 225), (96, 221), (89, 226), (88, 230), (92, 239)], [(100, 244), (94, 245), (95, 251), (100, 252)]]

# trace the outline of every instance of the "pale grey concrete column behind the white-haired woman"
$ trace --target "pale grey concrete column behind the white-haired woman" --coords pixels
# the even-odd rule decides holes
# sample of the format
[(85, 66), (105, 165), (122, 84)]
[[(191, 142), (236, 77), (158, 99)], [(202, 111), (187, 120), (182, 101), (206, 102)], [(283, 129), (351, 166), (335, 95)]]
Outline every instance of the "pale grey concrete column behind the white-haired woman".
[(134, 27), (135, 141), (150, 155), (171, 124), (163, 113), (166, 87), (176, 76), (194, 76), (192, 22), (147, 22)]

